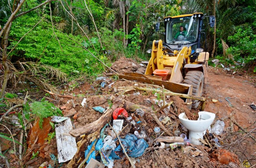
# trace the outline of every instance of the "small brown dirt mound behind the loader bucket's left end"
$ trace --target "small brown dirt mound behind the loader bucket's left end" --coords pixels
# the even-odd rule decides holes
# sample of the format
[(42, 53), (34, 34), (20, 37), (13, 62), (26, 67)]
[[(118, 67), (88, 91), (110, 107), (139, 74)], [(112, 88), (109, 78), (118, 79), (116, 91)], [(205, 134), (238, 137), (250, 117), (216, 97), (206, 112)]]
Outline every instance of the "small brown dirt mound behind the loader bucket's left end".
[(116, 72), (135, 72), (139, 67), (141, 66), (131, 58), (122, 57), (113, 63), (111, 69)]

